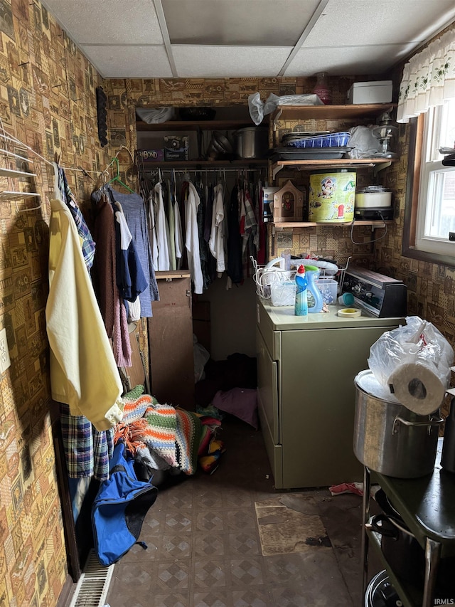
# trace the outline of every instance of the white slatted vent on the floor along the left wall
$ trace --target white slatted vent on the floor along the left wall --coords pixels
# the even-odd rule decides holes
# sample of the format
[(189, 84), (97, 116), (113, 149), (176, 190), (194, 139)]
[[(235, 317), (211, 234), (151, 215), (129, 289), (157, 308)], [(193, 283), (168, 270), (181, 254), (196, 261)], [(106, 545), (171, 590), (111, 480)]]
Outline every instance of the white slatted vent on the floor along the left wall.
[(69, 607), (104, 607), (114, 566), (102, 566), (95, 552), (90, 551)]

